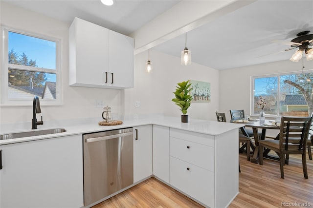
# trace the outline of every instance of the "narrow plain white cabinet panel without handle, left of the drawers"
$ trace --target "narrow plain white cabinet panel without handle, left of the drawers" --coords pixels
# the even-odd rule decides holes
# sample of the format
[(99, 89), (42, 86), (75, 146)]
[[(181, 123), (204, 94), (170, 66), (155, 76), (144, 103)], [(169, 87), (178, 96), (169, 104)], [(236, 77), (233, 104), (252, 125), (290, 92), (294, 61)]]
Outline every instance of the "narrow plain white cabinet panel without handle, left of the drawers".
[(153, 125), (153, 175), (170, 183), (170, 128)]

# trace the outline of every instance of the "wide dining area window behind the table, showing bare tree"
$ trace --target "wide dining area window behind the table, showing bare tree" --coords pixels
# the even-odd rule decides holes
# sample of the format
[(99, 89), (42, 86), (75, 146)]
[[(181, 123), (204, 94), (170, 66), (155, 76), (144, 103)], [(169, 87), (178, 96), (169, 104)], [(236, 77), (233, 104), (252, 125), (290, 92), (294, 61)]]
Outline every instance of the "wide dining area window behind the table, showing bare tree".
[(252, 79), (252, 114), (260, 113), (260, 96), (266, 99), (264, 111), (270, 116), (311, 116), (313, 112), (313, 73), (284, 74)]

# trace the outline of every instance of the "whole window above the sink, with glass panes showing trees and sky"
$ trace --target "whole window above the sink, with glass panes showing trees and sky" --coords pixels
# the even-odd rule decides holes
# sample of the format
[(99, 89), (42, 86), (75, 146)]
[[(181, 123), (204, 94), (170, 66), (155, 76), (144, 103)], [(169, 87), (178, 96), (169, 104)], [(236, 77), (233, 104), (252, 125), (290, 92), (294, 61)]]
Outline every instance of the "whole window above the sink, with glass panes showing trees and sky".
[(1, 104), (32, 104), (34, 96), (41, 104), (61, 104), (60, 40), (1, 31)]

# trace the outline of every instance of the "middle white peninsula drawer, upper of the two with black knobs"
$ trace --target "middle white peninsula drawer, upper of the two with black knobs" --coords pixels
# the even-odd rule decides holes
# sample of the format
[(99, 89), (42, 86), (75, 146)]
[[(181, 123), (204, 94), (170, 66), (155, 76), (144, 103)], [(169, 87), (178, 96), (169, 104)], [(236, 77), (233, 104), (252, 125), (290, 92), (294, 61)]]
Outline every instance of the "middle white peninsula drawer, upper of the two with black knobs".
[(171, 137), (170, 156), (214, 172), (214, 147)]

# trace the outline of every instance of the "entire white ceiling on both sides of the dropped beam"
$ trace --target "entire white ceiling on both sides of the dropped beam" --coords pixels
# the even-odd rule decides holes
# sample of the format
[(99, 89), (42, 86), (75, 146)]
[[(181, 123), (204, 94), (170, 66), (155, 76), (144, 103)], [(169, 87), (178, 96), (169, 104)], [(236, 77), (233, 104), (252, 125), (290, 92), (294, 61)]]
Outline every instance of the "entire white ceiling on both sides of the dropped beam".
[[(179, 0), (115, 0), (109, 7), (100, 0), (1, 1), (68, 23), (79, 17), (125, 35), (179, 3)], [(276, 53), (289, 46), (272, 41), (291, 41), (305, 30), (313, 34), (313, 0), (258, 0), (187, 32), (187, 48), (191, 50), (192, 62), (215, 69), (276, 62), (290, 59), (295, 50)], [(153, 49), (179, 57), (184, 47), (183, 34)], [(150, 58), (153, 62), (153, 54)]]

